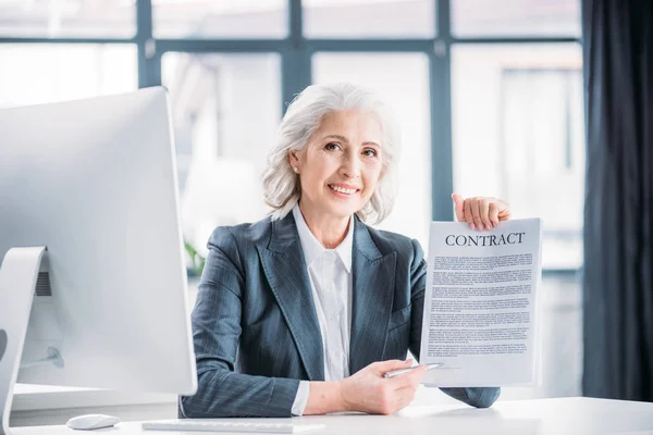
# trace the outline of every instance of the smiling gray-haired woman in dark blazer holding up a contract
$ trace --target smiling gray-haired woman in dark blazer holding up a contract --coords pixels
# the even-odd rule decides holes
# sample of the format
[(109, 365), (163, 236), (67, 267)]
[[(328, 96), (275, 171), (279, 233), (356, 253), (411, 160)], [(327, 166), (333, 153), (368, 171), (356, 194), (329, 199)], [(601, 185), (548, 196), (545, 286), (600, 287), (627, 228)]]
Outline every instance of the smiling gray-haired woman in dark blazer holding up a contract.
[[(417, 240), (377, 231), (394, 201), (398, 132), (377, 97), (309, 86), (268, 157), (255, 224), (218, 227), (193, 311), (198, 390), (180, 415), (390, 414), (415, 397), (427, 265)], [(454, 196), (478, 229), (508, 219), (495, 199)], [(489, 407), (500, 388), (443, 388)]]

